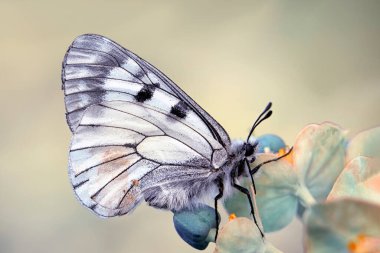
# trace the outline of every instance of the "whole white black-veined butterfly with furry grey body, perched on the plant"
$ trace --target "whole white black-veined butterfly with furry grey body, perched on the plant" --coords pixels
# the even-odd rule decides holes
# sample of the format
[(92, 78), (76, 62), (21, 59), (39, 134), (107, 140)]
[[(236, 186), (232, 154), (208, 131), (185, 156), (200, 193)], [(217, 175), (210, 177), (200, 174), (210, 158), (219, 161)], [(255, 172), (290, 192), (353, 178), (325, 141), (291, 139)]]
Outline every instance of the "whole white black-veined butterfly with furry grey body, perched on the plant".
[[(249, 191), (255, 127), (232, 141), (223, 127), (150, 63), (112, 40), (77, 37), (62, 65), (66, 119), (73, 133), (69, 177), (79, 201), (99, 216), (131, 212), (139, 203), (180, 211)], [(217, 236), (217, 235), (216, 235)]]

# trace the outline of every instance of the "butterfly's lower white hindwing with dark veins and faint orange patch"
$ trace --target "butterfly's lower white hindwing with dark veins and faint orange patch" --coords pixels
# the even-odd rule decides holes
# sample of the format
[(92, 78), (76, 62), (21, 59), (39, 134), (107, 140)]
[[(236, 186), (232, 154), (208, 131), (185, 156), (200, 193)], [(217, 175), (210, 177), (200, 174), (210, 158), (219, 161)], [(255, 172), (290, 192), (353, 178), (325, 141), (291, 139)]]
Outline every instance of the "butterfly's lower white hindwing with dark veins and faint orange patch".
[(122, 215), (157, 185), (209, 176), (225, 162), (219, 148), (165, 113), (103, 102), (86, 109), (76, 128), (69, 174), (84, 205), (101, 216)]

